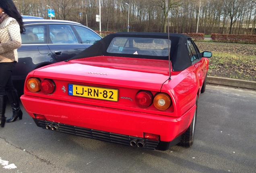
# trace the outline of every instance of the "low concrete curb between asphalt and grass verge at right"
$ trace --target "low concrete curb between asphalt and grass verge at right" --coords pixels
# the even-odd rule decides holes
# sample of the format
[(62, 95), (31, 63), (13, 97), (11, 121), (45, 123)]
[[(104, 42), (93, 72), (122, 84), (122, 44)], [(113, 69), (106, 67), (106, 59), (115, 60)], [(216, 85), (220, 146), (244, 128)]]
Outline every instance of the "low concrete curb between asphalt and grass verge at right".
[(256, 82), (251, 80), (207, 76), (206, 83), (256, 90)]

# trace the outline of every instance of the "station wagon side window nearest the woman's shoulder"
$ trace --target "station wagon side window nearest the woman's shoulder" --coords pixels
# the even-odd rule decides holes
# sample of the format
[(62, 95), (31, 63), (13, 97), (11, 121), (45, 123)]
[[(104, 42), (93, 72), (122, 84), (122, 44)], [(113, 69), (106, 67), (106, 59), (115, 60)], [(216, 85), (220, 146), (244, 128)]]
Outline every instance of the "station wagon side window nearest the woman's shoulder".
[(22, 44), (46, 43), (46, 25), (27, 25), (25, 34), (21, 34)]

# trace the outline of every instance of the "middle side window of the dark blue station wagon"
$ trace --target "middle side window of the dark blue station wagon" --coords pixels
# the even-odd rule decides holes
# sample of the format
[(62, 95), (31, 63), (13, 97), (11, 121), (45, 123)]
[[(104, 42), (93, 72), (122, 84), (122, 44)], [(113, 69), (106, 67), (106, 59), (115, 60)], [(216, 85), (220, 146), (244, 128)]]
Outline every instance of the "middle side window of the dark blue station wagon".
[(70, 25), (50, 24), (50, 40), (53, 44), (77, 44), (78, 40)]

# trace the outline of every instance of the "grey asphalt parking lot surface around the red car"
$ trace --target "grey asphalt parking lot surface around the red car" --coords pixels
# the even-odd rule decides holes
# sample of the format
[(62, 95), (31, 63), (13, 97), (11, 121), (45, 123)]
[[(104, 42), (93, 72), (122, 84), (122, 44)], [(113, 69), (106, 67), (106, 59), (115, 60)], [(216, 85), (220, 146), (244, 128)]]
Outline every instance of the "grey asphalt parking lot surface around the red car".
[(194, 145), (168, 151), (44, 130), (24, 112), (0, 128), (0, 172), (255, 173), (256, 91), (207, 85), (198, 103)]

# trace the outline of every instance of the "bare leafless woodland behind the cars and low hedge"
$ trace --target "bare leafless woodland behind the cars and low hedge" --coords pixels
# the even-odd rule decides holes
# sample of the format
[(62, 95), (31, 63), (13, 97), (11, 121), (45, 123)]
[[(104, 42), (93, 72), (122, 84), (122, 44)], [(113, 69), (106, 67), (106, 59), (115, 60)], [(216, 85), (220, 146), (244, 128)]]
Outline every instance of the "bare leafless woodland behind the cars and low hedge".
[[(199, 11), (199, 3), (200, 11)], [(101, 0), (102, 30), (127, 31), (128, 11), (130, 32), (166, 32), (167, 19), (171, 32), (255, 34), (255, 0)], [(128, 5), (126, 5), (129, 4)], [(53, 19), (72, 20), (99, 29), (96, 14), (99, 0), (17, 0), (22, 15), (48, 17), (47, 9), (55, 12)], [(169, 13), (168, 13), (169, 11)], [(80, 16), (81, 12), (81, 16)], [(199, 20), (198, 20), (199, 19)]]

